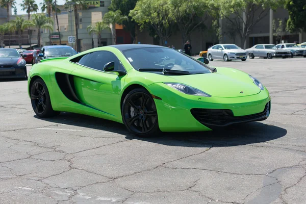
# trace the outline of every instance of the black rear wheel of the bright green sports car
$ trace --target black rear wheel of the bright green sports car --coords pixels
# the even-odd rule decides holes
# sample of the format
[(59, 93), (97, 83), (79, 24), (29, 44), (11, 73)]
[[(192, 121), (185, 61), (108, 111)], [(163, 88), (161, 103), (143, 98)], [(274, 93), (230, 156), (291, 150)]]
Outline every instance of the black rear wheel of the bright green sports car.
[(48, 88), (42, 79), (36, 79), (30, 87), (31, 104), (38, 117), (53, 117), (60, 112), (54, 111)]

